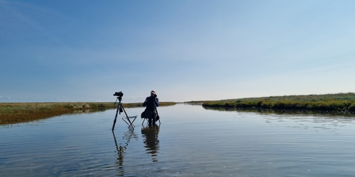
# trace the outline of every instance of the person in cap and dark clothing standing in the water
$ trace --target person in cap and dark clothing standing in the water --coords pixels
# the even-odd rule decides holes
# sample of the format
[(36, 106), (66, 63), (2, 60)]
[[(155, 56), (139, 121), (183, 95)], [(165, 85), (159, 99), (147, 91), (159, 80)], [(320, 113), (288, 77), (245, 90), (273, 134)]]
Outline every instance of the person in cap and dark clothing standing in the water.
[(146, 98), (146, 101), (143, 103), (143, 107), (146, 107), (146, 110), (144, 110), (144, 115), (146, 118), (148, 118), (148, 123), (149, 125), (155, 125), (155, 121), (157, 121), (155, 118), (157, 118), (157, 111), (155, 107), (159, 106), (159, 98), (157, 98), (157, 92), (155, 90), (151, 91), (151, 96)]

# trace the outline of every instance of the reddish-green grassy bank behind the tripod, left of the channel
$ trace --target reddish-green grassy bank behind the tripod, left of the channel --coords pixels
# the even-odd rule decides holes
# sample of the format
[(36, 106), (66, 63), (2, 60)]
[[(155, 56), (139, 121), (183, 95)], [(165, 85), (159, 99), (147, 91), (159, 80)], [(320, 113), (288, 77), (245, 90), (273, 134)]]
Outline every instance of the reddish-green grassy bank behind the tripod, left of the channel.
[[(174, 105), (161, 102), (160, 106)], [(142, 103), (123, 103), (125, 108), (142, 107)], [(111, 102), (70, 102), (70, 103), (0, 103), (0, 125), (45, 119), (56, 115), (75, 112), (95, 112), (116, 109)]]

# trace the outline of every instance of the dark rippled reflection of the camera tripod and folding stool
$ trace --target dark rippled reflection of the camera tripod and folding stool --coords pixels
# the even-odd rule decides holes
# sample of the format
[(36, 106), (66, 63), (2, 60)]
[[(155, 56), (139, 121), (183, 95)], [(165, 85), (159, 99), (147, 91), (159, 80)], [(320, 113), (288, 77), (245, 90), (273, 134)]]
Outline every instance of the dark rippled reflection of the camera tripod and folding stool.
[(124, 133), (122, 139), (126, 140), (126, 143), (122, 144), (118, 144), (116, 141), (116, 137), (115, 137), (115, 133), (112, 131), (113, 134), (113, 138), (115, 139), (115, 144), (116, 144), (116, 149), (117, 149), (117, 160), (116, 160), (116, 165), (118, 166), (118, 170), (117, 172), (119, 173), (116, 176), (124, 176), (125, 174), (125, 169), (124, 169), (124, 165), (123, 165), (123, 159), (125, 157), (125, 150), (127, 149), (128, 143), (131, 141), (131, 138), (134, 139), (138, 139), (138, 135), (137, 133), (133, 132), (133, 131), (127, 131)]

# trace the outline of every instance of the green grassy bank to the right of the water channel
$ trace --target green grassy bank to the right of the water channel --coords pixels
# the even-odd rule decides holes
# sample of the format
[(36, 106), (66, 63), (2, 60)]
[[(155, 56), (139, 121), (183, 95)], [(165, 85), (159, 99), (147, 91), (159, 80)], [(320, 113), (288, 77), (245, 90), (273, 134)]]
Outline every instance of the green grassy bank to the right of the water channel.
[(291, 95), (206, 101), (204, 107), (355, 111), (355, 93)]

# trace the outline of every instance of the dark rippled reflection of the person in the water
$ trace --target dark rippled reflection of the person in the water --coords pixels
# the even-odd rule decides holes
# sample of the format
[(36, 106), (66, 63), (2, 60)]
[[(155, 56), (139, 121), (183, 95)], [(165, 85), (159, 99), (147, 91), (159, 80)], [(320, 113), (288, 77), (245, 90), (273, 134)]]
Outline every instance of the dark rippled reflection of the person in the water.
[(152, 154), (152, 161), (157, 162), (157, 153), (159, 150), (159, 140), (158, 140), (159, 126), (158, 125), (149, 125), (142, 128), (142, 137), (144, 146), (148, 151), (146, 154)]

